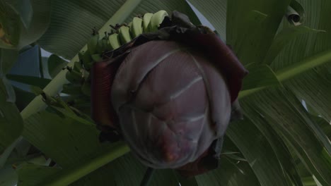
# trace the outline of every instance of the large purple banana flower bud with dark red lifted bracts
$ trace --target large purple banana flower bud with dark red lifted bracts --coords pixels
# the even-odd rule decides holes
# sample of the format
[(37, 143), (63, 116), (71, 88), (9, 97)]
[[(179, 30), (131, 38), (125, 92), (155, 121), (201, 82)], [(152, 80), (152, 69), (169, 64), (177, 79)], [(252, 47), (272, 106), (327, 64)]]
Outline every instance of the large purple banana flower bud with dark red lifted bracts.
[(158, 32), (107, 55), (91, 70), (92, 115), (100, 130), (120, 133), (152, 168), (187, 176), (216, 168), (248, 73), (231, 49), (174, 11)]

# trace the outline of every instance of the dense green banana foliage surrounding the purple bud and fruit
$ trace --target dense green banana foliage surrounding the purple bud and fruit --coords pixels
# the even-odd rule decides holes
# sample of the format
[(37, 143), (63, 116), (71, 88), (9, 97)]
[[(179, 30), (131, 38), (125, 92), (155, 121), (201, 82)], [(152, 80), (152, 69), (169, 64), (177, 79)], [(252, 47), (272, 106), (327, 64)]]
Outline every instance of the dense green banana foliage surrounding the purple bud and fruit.
[[(230, 124), (217, 170), (158, 170), (151, 185), (331, 185), (331, 1), (189, 2), (250, 70), (245, 118)], [(126, 144), (100, 144), (91, 120), (35, 93), (61, 91), (93, 27), (161, 9), (199, 24), (184, 0), (0, 0), (0, 185), (138, 185), (146, 167)]]

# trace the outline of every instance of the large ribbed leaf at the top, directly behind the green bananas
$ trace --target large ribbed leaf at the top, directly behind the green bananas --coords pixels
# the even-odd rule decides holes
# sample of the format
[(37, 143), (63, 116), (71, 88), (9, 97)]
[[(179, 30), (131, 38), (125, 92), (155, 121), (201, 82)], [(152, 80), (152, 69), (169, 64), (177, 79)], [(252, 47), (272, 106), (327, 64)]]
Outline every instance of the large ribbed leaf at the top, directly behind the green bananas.
[[(118, 17), (116, 16), (117, 21), (108, 23), (107, 30), (102, 30), (100, 35), (104, 35), (105, 31), (110, 32), (110, 24), (129, 23), (134, 16), (148, 12), (156, 13), (160, 10), (168, 11), (169, 14), (174, 10), (181, 11), (187, 14), (193, 23), (199, 23), (197, 16), (183, 0), (116, 0), (111, 2), (100, 0), (93, 1), (92, 4), (80, 0), (54, 1), (50, 29), (40, 38), (38, 44), (52, 54), (72, 58), (90, 39), (92, 28), (96, 27), (99, 30), (115, 13), (120, 13)], [(77, 21), (78, 18), (79, 21)]]

